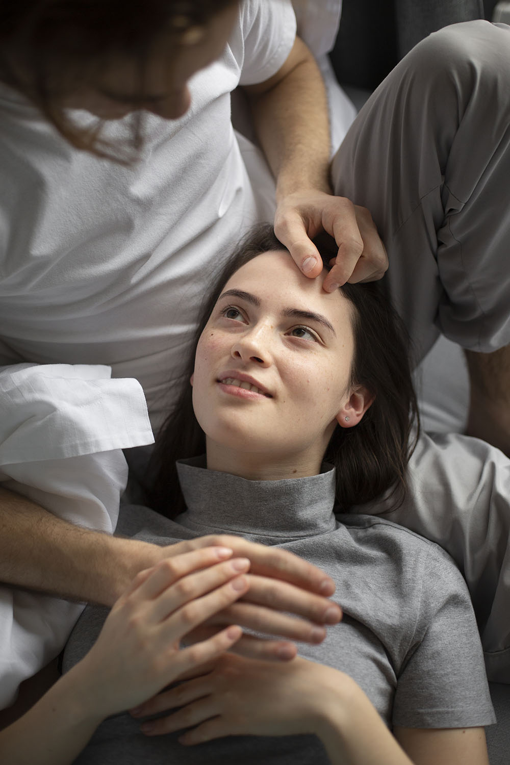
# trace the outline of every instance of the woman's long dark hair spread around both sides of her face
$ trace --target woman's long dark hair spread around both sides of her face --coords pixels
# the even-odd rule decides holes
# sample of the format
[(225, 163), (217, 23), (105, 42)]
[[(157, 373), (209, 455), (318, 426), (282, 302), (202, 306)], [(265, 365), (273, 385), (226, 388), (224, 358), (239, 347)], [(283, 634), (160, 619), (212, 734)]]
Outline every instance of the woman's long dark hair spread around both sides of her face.
[[(281, 249), (284, 247), (271, 226), (253, 229), (206, 295), (184, 370), (184, 386), (156, 439), (148, 471), (151, 506), (164, 516), (174, 518), (185, 509), (176, 461), (206, 451), (205, 435), (193, 412), (188, 382), (203, 328), (229, 278), (261, 252)], [(326, 265), (329, 256), (321, 254)], [(354, 308), (350, 382), (369, 389), (374, 401), (355, 427), (336, 425), (324, 461), (336, 467), (339, 511), (348, 512), (351, 506), (375, 500), (388, 490), (391, 499), (386, 508), (395, 509), (404, 500), (406, 467), (419, 431), (408, 336), (380, 283), (346, 284), (340, 291)]]

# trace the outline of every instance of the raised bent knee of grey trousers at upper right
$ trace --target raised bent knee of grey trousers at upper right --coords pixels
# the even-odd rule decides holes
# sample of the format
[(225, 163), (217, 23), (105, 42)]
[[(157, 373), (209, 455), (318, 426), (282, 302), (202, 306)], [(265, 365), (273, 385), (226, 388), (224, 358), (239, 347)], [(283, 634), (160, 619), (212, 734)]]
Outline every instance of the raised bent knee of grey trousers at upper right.
[(440, 333), (484, 352), (510, 343), (510, 27), (453, 24), (414, 47), (332, 173), (372, 213), (416, 363)]

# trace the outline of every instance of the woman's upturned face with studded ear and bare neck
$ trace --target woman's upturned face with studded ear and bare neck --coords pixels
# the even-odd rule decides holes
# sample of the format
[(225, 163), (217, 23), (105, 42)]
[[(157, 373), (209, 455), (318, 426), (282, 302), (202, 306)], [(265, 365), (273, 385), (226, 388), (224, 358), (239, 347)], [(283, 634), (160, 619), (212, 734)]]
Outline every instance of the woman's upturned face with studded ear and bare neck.
[(208, 467), (270, 461), (289, 477), (314, 474), (336, 423), (359, 422), (369, 399), (350, 386), (353, 309), (323, 291), (325, 277), (305, 277), (286, 251), (265, 252), (223, 288), (192, 377)]

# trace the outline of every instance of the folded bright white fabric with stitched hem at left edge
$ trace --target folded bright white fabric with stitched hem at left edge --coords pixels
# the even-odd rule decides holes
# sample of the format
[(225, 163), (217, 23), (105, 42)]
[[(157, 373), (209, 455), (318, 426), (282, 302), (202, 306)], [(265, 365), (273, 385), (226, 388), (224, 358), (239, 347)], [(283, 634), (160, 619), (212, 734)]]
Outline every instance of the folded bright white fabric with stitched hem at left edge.
[(25, 363), (2, 369), (0, 466), (151, 443), (140, 383), (111, 376), (104, 365)]

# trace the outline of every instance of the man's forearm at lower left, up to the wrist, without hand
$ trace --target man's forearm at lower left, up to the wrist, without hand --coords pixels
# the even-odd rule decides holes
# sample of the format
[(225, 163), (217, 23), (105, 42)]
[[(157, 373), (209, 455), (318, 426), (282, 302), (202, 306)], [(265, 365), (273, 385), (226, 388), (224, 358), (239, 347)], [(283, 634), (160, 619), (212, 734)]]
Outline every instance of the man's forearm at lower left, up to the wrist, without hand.
[(0, 487), (0, 581), (111, 606), (161, 558), (147, 542), (74, 526)]

